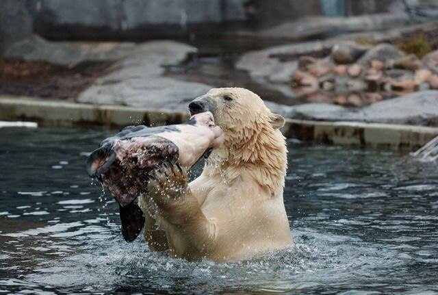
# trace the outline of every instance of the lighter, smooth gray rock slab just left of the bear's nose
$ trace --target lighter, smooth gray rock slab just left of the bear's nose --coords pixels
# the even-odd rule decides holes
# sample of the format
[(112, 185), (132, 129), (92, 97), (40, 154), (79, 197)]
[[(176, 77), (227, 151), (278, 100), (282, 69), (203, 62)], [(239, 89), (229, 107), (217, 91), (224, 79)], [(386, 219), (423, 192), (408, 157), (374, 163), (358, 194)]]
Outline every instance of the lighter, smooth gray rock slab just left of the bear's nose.
[(195, 51), (172, 41), (140, 44), (116, 63), (116, 70), (79, 94), (77, 101), (187, 111), (188, 103), (212, 86), (163, 77), (163, 66), (182, 62)]

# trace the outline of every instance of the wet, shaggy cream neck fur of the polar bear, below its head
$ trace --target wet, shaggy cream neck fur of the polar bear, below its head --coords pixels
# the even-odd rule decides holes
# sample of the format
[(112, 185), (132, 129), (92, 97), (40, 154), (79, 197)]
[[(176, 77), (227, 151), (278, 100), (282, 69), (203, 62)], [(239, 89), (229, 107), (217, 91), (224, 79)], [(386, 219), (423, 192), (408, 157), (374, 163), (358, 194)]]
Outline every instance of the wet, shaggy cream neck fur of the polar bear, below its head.
[(225, 131), (225, 142), (210, 155), (204, 173), (226, 183), (247, 174), (272, 196), (281, 196), (287, 168), (285, 138), (268, 124), (255, 125)]

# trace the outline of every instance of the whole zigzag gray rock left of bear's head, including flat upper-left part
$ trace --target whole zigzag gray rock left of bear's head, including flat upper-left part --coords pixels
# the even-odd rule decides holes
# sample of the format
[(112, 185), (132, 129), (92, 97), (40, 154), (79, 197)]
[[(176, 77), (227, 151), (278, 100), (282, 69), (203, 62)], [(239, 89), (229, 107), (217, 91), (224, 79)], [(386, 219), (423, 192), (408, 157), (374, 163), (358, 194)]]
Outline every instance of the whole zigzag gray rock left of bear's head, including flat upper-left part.
[(212, 86), (163, 77), (164, 66), (179, 64), (196, 50), (174, 41), (48, 42), (32, 36), (14, 43), (5, 56), (52, 64), (114, 60), (112, 72), (81, 92), (78, 102), (187, 111), (188, 103)]

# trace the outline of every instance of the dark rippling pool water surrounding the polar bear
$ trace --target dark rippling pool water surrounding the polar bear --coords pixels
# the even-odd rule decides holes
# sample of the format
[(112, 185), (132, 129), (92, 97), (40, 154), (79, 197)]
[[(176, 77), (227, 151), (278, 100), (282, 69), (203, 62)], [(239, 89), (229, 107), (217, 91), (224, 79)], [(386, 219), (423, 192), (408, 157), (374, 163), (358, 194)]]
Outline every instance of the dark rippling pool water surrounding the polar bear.
[[(405, 153), (289, 144), (296, 246), (188, 262), (127, 244), (85, 152), (114, 131), (0, 129), (0, 293), (437, 294), (438, 171)], [(100, 200), (99, 200), (100, 198)]]

